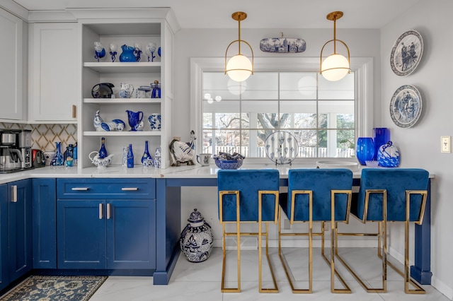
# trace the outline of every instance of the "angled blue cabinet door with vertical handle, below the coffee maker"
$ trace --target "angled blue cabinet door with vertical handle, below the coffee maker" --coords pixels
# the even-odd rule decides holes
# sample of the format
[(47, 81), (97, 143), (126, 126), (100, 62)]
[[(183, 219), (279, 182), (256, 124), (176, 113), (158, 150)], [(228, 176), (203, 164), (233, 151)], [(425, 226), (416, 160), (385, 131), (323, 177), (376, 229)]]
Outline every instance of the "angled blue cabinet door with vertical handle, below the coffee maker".
[(31, 179), (8, 183), (9, 280), (33, 268)]

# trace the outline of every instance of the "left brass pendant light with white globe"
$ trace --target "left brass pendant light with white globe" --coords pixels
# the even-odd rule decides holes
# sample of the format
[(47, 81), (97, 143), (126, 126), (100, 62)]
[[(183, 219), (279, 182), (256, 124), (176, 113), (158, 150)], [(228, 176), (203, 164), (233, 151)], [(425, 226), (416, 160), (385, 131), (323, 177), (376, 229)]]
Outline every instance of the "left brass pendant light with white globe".
[[(225, 52), (225, 74), (228, 74), (229, 78), (233, 81), (245, 81), (251, 74), (253, 74), (253, 49), (248, 44), (248, 42), (241, 40), (241, 20), (245, 20), (247, 18), (247, 14), (243, 13), (242, 11), (236, 11), (231, 15), (231, 18), (238, 21), (239, 24), (239, 38), (238, 40), (234, 40), (233, 42), (229, 43), (228, 47), (226, 47)], [(226, 56), (228, 54), (228, 49), (234, 43), (238, 43), (239, 52), (234, 57), (231, 57), (228, 62)], [(251, 52), (252, 52), (252, 60), (248, 59), (245, 55), (241, 54), (241, 43), (246, 44)]]

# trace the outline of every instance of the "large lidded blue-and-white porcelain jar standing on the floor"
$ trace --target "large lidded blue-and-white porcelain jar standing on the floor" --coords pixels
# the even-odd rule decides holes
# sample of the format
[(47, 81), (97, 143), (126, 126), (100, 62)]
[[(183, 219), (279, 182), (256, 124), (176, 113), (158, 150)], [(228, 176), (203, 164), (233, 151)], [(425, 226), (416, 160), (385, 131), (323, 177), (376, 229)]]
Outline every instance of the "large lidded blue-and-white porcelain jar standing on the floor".
[(193, 209), (179, 240), (181, 251), (191, 262), (205, 261), (211, 254), (214, 236), (208, 224), (197, 209)]

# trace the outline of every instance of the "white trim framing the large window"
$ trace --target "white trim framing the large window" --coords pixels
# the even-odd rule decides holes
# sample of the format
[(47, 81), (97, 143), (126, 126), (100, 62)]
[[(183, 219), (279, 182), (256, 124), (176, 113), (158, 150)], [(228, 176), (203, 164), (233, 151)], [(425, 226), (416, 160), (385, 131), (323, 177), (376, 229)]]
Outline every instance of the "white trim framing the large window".
[[(202, 74), (203, 72), (223, 72), (224, 57), (197, 57), (190, 59), (190, 129), (195, 134), (202, 131)], [(359, 100), (355, 107), (355, 120), (357, 122), (356, 141), (358, 137), (369, 137), (373, 126), (373, 58), (351, 57), (350, 68), (355, 72), (355, 93)], [(254, 58), (254, 71), (319, 71), (319, 57), (258, 57)], [(196, 141), (196, 149), (202, 149), (201, 139)], [(253, 162), (268, 163), (268, 159), (251, 158)], [(297, 158), (296, 160), (313, 161), (318, 158)], [(340, 160), (340, 158), (338, 158)], [(350, 158), (346, 158), (350, 160)]]

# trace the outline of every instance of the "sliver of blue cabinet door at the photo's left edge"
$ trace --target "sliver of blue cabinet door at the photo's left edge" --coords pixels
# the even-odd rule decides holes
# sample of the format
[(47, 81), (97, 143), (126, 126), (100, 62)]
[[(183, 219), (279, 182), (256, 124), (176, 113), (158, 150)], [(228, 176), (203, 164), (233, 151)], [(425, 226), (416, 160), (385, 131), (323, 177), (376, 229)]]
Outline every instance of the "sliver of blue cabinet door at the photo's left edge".
[(0, 290), (9, 283), (8, 277), (8, 185), (0, 185)]

